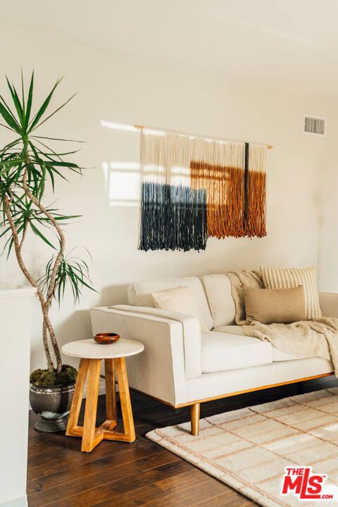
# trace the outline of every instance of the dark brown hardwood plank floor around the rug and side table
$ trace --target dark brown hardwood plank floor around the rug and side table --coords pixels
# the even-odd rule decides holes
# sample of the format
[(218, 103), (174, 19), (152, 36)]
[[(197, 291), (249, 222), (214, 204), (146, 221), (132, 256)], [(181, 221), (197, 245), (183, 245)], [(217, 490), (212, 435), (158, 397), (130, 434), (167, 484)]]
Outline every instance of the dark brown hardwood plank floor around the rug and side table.
[[(204, 403), (201, 418), (236, 408), (338, 387), (335, 377), (266, 389)], [(92, 453), (81, 453), (81, 440), (34, 430), (30, 413), (28, 449), (29, 507), (249, 507), (256, 505), (225, 484), (154, 444), (144, 436), (156, 427), (189, 420), (189, 409), (174, 411), (132, 393), (137, 439), (133, 444), (104, 441)], [(83, 411), (83, 403), (82, 403)], [(104, 396), (98, 420), (104, 420)]]

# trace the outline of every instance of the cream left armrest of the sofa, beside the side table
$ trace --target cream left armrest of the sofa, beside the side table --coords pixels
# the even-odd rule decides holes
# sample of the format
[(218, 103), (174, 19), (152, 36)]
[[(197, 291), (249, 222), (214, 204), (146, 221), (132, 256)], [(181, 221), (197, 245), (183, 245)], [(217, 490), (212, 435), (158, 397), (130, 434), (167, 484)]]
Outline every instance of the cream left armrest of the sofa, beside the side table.
[[(130, 386), (173, 405), (181, 403), (186, 389), (184, 325), (178, 320), (137, 310), (134, 306), (92, 308), (93, 332), (118, 332), (124, 338), (142, 342), (144, 352), (127, 358)], [(153, 308), (146, 310), (152, 311)], [(199, 376), (201, 346), (194, 350), (197, 358), (191, 362), (196, 365), (195, 376)]]

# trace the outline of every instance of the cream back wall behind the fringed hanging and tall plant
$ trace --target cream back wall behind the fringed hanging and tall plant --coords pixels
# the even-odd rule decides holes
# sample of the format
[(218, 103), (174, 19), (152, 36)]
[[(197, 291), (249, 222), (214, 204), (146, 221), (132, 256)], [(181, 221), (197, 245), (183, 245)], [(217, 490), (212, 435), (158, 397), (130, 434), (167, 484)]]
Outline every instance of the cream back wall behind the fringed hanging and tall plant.
[[(64, 213), (83, 215), (67, 228), (68, 250), (87, 246), (99, 294), (85, 291), (77, 308), (70, 297), (60, 309), (54, 306), (52, 318), (61, 344), (90, 337), (89, 308), (125, 303), (125, 286), (132, 280), (222, 273), (258, 268), (260, 263), (318, 263), (319, 182), (332, 139), (304, 136), (302, 121), (303, 113), (330, 118), (330, 103), (253, 89), (249, 75), (248, 84), (230, 87), (225, 77), (153, 65), (8, 27), (1, 28), (0, 44), (6, 47), (1, 67), (15, 80), (21, 64), (26, 74), (35, 68), (37, 101), (63, 74), (58, 102), (79, 90), (44, 132), (86, 141), (76, 160), (89, 169), (82, 179), (70, 176), (71, 184), (58, 182), (56, 196)], [(268, 152), (268, 236), (209, 239), (200, 253), (137, 251), (138, 208), (110, 205), (104, 168), (137, 163), (139, 134), (111, 130), (101, 120), (273, 144)], [(25, 254), (39, 275), (47, 253), (35, 249), (37, 244), (32, 238)], [(4, 258), (0, 277), (22, 280), (15, 263), (6, 265)], [(44, 363), (41, 319), (38, 311), (35, 315), (32, 368)]]

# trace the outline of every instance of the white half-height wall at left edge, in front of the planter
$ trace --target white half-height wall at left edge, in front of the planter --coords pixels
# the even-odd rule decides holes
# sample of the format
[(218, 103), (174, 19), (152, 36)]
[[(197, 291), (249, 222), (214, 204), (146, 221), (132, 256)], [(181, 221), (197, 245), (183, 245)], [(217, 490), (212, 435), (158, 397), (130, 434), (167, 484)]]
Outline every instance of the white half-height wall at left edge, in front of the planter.
[[(30, 390), (30, 323), (35, 289), (0, 282), (0, 406), (11, 414), (0, 419), (0, 506), (25, 507)], [(20, 315), (20, 318), (18, 318)], [(20, 354), (18, 354), (20, 350)], [(4, 411), (3, 411), (4, 414)]]

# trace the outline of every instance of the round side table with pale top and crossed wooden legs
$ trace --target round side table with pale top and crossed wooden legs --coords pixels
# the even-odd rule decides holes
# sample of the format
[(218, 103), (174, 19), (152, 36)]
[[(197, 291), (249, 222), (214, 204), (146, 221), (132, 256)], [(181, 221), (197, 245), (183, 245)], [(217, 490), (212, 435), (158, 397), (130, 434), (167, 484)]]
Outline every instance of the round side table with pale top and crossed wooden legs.
[[(69, 437), (82, 437), (81, 451), (92, 451), (103, 439), (134, 442), (135, 430), (127, 370), (125, 369), (125, 357), (134, 356), (134, 354), (143, 350), (144, 345), (141, 342), (123, 338), (109, 345), (97, 344), (94, 339), (78, 340), (77, 342), (63, 345), (62, 351), (66, 356), (81, 358), (67, 430), (65, 432)], [(101, 426), (96, 428), (101, 360), (104, 360), (106, 368), (107, 419)], [(77, 422), (87, 374), (87, 399), (84, 409), (84, 423), (83, 426), (78, 426)], [(114, 431), (117, 425), (115, 375), (117, 375), (118, 380), (124, 433)]]

